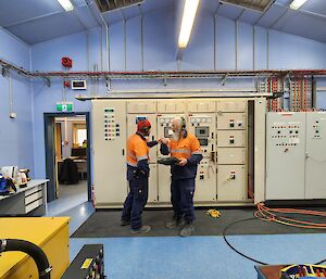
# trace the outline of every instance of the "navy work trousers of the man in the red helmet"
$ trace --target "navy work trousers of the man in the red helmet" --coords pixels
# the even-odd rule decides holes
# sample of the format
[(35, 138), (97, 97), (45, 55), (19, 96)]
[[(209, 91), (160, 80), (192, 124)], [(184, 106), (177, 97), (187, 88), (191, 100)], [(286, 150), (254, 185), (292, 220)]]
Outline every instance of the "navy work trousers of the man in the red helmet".
[(129, 180), (129, 193), (125, 200), (122, 220), (130, 220), (131, 229), (142, 226), (141, 213), (148, 200), (148, 177)]

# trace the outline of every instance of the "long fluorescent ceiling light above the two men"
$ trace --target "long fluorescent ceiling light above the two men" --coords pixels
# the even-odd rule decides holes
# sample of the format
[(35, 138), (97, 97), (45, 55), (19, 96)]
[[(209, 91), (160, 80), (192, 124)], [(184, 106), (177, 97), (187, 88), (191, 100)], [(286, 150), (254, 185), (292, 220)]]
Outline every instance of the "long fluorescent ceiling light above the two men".
[(185, 0), (181, 28), (180, 28), (179, 41), (178, 41), (179, 48), (186, 48), (188, 45), (198, 4), (199, 4), (199, 0)]

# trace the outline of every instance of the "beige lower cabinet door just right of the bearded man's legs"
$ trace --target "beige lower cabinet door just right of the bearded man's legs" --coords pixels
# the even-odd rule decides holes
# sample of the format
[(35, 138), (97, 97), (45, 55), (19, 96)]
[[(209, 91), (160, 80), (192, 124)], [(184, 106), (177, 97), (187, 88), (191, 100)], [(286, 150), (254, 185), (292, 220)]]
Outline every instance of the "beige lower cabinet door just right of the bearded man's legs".
[(216, 166), (210, 158), (203, 158), (198, 165), (193, 201), (216, 201)]

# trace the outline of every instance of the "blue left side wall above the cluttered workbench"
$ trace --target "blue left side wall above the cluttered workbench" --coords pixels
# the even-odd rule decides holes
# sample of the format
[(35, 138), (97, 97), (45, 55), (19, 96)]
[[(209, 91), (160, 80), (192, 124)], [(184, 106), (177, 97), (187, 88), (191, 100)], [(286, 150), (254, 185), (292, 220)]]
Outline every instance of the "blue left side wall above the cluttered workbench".
[[(0, 58), (20, 67), (30, 68), (29, 46), (0, 27)], [(13, 112), (11, 119), (9, 77), (0, 75), (0, 166), (17, 165), (28, 167), (34, 174), (33, 150), (33, 98), (32, 85), (22, 76), (11, 73)]]

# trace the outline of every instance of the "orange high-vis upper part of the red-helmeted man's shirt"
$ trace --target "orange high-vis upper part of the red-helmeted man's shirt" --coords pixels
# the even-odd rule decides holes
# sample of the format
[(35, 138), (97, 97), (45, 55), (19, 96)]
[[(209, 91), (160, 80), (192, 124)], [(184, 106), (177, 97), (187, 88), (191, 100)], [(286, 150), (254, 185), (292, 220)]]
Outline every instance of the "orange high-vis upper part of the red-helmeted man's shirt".
[(127, 164), (137, 167), (140, 160), (149, 160), (149, 150), (147, 140), (134, 134), (127, 140)]

